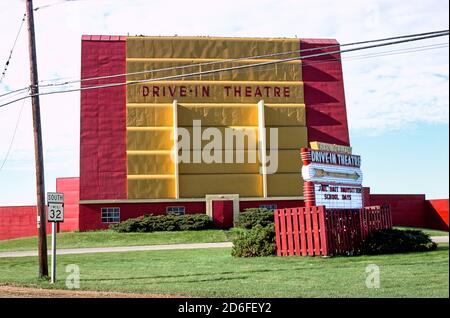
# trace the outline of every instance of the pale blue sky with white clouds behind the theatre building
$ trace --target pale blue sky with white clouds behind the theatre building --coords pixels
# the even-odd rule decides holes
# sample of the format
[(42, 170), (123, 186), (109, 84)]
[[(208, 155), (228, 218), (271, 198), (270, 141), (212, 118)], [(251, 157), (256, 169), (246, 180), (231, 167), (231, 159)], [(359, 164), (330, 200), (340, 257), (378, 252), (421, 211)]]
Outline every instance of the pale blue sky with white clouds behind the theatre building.
[[(34, 6), (40, 8), (42, 81), (79, 78), (82, 34), (335, 38), (344, 44), (449, 28), (445, 0), (35, 0)], [(24, 11), (23, 0), (0, 0), (0, 71)], [(430, 46), (440, 43), (448, 45), (448, 36), (343, 54), (350, 141), (372, 193), (448, 198), (449, 49)], [(405, 48), (416, 52), (361, 57)], [(29, 82), (24, 25), (0, 95)], [(41, 97), (46, 191), (55, 191), (57, 177), (79, 175), (79, 103), (79, 93)], [(6, 156), (0, 206), (35, 204), (29, 100), (0, 108), (0, 166)]]

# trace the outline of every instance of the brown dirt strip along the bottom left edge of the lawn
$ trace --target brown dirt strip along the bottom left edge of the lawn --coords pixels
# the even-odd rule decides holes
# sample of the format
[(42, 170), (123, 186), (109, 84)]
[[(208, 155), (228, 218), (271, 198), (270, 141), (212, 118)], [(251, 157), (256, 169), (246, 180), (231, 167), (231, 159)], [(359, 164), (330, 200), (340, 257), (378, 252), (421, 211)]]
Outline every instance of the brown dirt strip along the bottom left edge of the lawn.
[(0, 285), (0, 298), (179, 298), (179, 295), (44, 289)]

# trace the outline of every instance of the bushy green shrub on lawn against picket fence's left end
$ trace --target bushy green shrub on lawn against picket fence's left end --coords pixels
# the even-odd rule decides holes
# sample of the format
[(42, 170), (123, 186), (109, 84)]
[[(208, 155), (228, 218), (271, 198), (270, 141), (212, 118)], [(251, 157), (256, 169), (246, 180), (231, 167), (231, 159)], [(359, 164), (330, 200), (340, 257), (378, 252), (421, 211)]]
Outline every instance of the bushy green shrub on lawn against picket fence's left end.
[(275, 228), (273, 224), (267, 226), (256, 225), (250, 230), (242, 231), (233, 240), (232, 256), (255, 257), (270, 256), (276, 253)]

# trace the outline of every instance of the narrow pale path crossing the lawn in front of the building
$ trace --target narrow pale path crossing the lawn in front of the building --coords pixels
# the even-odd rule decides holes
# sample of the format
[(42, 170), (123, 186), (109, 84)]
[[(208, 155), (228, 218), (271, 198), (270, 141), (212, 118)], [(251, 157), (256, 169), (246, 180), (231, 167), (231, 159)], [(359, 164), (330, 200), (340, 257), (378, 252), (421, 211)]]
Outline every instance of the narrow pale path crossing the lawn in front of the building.
[[(448, 236), (432, 236), (436, 243), (448, 243)], [(89, 247), (58, 249), (57, 255), (64, 254), (88, 254), (88, 253), (114, 253), (134, 251), (165, 251), (165, 250), (190, 250), (198, 248), (221, 248), (232, 247), (232, 242), (221, 243), (192, 243), (192, 244), (166, 244), (166, 245), (144, 245), (144, 246), (117, 246), (117, 247)], [(50, 254), (50, 251), (49, 251)], [(37, 256), (37, 251), (0, 252), (0, 258)]]

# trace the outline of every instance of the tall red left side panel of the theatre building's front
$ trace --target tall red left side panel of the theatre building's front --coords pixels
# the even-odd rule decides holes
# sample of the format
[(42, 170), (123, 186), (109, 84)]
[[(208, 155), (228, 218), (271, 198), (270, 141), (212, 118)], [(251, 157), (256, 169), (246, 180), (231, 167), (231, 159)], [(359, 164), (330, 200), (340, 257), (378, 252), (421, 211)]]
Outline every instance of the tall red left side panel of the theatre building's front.
[[(125, 72), (125, 37), (83, 36), (82, 79)], [(125, 80), (91, 80), (82, 87)], [(126, 198), (126, 87), (81, 91), (80, 199)]]

